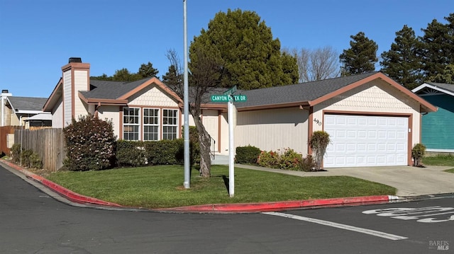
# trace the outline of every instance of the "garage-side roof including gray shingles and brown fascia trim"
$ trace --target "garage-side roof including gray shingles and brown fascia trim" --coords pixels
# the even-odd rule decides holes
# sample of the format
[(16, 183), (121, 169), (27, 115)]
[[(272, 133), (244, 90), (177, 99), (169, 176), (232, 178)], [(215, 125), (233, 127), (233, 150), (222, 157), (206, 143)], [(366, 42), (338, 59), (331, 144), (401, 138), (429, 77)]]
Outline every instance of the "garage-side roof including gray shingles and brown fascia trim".
[(236, 108), (238, 110), (253, 110), (284, 108), (297, 105), (313, 106), (375, 79), (386, 81), (390, 86), (397, 88), (406, 96), (418, 101), (424, 112), (436, 111), (435, 106), (431, 105), (423, 98), (416, 96), (414, 93), (411, 93), (407, 88), (379, 71), (288, 86), (274, 86), (250, 91), (237, 91), (235, 93), (236, 95), (245, 95), (247, 96), (247, 100), (245, 102), (236, 103)]

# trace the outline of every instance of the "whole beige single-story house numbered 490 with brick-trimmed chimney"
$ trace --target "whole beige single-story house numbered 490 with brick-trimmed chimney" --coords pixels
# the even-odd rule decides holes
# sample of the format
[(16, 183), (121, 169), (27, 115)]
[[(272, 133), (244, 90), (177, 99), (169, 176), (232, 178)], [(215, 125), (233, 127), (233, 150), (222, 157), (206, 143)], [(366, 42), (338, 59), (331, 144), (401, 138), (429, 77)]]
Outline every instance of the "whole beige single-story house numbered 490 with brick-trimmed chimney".
[[(175, 139), (182, 133), (182, 99), (156, 78), (133, 82), (89, 79), (90, 64), (70, 59), (44, 105), (52, 126), (80, 115), (111, 120), (118, 139)], [(436, 107), (380, 72), (290, 86), (236, 91), (235, 147), (266, 151), (294, 149), (311, 154), (309, 137), (331, 136), (324, 167), (411, 165), (420, 142), (421, 112)], [(228, 153), (226, 103), (202, 105), (204, 127), (219, 154)], [(189, 125), (193, 125), (190, 117)]]

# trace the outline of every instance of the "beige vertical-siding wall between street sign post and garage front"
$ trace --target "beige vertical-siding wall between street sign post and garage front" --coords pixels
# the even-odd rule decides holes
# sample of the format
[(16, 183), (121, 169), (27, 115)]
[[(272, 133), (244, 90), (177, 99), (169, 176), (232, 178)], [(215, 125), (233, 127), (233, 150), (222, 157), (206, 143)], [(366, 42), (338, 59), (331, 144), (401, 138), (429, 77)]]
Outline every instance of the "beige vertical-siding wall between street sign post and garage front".
[(299, 108), (238, 112), (235, 147), (251, 145), (265, 151), (289, 148), (305, 156), (308, 115)]

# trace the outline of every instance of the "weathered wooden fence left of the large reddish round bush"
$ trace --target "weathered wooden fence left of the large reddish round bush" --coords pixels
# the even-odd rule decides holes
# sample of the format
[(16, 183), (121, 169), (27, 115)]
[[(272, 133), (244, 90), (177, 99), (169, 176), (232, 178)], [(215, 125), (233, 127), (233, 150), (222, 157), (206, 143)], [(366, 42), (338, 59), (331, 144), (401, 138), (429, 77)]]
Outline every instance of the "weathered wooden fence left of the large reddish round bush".
[(57, 171), (65, 158), (63, 129), (16, 129), (14, 144), (21, 144), (24, 150), (32, 150), (43, 160), (43, 167)]

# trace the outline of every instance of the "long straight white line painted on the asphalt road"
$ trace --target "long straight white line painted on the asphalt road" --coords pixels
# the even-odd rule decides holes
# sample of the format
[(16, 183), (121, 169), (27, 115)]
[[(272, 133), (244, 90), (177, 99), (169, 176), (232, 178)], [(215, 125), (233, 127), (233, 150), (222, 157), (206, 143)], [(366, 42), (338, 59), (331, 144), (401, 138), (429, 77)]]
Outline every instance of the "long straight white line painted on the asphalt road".
[(371, 229), (362, 229), (362, 228), (358, 228), (356, 226), (348, 226), (348, 225), (345, 225), (345, 224), (338, 224), (338, 223), (332, 222), (332, 221), (323, 221), (321, 219), (313, 219), (313, 218), (309, 218), (309, 217), (301, 217), (301, 216), (298, 216), (298, 215), (284, 214), (284, 213), (281, 213), (281, 212), (262, 212), (262, 214), (275, 215), (275, 216), (285, 217), (285, 218), (289, 218), (289, 219), (297, 219), (299, 221), (308, 221), (308, 222), (321, 224), (321, 225), (325, 225), (325, 226), (332, 226), (332, 227), (338, 228), (338, 229), (345, 229), (345, 230), (350, 230), (350, 231), (356, 231), (356, 232), (359, 232), (359, 233), (366, 233), (368, 235), (377, 236), (377, 237), (381, 237), (381, 238), (387, 238), (387, 239), (390, 239), (390, 240), (403, 240), (403, 239), (407, 239), (408, 238), (408, 237), (405, 237), (405, 236), (393, 235), (392, 233), (384, 233), (384, 232), (375, 231), (375, 230), (371, 230)]

